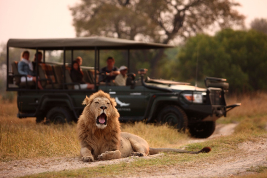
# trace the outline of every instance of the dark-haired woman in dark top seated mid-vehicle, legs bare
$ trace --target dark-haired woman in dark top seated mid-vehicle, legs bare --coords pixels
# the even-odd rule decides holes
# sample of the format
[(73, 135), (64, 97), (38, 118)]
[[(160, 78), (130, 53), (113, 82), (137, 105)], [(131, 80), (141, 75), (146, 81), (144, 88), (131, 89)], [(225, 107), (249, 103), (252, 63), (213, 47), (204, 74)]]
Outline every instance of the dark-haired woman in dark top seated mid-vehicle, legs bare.
[[(86, 83), (83, 80), (83, 74), (77, 61), (73, 61), (71, 65), (71, 79), (73, 82), (80, 83), (81, 89), (94, 89), (94, 84)], [(78, 85), (74, 85), (74, 89), (80, 89)]]

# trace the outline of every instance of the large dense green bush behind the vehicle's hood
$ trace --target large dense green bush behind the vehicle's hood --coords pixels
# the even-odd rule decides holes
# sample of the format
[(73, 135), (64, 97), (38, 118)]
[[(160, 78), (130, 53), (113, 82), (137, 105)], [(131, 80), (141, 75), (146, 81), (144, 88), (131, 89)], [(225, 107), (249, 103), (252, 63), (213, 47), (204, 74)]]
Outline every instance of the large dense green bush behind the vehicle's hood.
[(225, 29), (215, 36), (198, 34), (178, 54), (179, 79), (195, 81), (206, 76), (226, 78), (230, 91), (267, 90), (267, 35)]

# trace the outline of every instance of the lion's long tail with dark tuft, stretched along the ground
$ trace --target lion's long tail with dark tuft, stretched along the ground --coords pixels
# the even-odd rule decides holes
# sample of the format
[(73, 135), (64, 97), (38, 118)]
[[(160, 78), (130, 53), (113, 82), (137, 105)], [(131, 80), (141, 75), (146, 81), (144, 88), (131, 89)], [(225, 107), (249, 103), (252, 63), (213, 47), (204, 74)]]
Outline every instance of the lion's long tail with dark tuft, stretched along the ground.
[(159, 152), (178, 152), (178, 153), (191, 153), (191, 154), (198, 154), (198, 153), (208, 153), (211, 151), (210, 147), (204, 147), (199, 151), (187, 151), (187, 150), (180, 150), (175, 148), (149, 148), (149, 154), (155, 155)]

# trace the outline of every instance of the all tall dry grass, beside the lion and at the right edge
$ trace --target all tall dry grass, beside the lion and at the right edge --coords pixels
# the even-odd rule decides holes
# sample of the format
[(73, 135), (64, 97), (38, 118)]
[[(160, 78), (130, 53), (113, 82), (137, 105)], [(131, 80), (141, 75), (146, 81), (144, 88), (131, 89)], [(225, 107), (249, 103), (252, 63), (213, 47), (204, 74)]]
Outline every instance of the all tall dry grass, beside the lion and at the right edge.
[[(228, 98), (228, 104), (240, 102), (219, 122), (241, 122), (236, 132), (253, 132), (263, 129), (267, 121), (267, 94), (254, 93)], [(76, 124), (42, 125), (35, 118), (18, 119), (16, 101), (0, 99), (0, 161), (53, 156), (79, 156), (80, 145)], [(251, 119), (253, 118), (253, 119)], [(221, 120), (221, 121), (220, 121)], [(179, 147), (189, 136), (178, 133), (167, 125), (149, 125), (142, 122), (122, 124), (122, 131), (136, 134), (147, 140), (151, 147)]]

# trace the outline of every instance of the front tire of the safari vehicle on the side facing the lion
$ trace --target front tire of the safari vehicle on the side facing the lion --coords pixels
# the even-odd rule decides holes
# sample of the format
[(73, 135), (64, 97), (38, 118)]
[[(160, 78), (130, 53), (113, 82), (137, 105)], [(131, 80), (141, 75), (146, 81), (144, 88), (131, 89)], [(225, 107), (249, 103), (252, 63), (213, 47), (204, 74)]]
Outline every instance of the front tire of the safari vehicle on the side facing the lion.
[(161, 124), (168, 123), (177, 128), (178, 131), (185, 131), (188, 123), (187, 115), (176, 105), (163, 108), (158, 115), (157, 121)]

